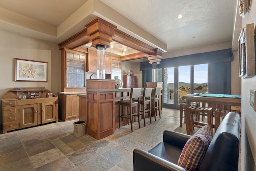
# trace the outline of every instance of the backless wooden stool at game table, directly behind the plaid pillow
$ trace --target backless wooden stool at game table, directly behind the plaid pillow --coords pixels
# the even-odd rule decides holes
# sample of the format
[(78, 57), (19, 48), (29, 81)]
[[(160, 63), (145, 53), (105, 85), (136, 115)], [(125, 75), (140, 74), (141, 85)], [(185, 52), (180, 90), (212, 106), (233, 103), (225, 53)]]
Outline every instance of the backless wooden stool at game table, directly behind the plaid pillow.
[(198, 121), (198, 113), (206, 113), (207, 114), (207, 123), (210, 125), (211, 132), (212, 132), (212, 123), (213, 123), (213, 108), (212, 107), (196, 107), (196, 106), (190, 106), (188, 108), (188, 114), (187, 116), (190, 116), (190, 122), (189, 127), (187, 128), (187, 133), (190, 135), (190, 130), (192, 130), (193, 127), (201, 128), (206, 123)]

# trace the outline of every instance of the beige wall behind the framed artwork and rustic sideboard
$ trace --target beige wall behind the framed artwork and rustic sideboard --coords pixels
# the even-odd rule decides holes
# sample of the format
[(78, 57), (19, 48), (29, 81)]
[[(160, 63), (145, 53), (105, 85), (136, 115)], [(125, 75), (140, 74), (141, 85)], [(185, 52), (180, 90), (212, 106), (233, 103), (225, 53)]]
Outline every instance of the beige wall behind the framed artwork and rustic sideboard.
[[(60, 91), (58, 45), (0, 30), (0, 98), (14, 87), (46, 87)], [(15, 58), (48, 62), (48, 82), (15, 82)], [(0, 104), (2, 109), (2, 103)], [(2, 118), (2, 110), (0, 110)], [(1, 128), (2, 129), (2, 128)]]

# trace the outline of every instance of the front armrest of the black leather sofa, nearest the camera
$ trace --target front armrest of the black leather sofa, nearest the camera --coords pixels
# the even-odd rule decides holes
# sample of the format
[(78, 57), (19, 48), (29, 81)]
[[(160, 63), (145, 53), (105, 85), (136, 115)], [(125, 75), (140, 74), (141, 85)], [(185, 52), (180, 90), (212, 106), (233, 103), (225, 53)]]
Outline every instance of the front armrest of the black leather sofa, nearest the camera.
[(141, 149), (133, 151), (134, 171), (186, 171), (186, 169)]

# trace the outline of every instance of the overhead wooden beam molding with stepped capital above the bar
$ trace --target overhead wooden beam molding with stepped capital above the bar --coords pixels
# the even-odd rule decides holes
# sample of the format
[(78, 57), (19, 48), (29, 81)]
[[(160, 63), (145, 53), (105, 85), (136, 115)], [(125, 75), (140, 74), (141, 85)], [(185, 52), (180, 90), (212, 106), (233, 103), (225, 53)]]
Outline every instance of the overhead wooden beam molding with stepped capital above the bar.
[(97, 17), (85, 26), (86, 28), (58, 44), (59, 49), (78, 48), (84, 44), (88, 44), (90, 41), (92, 41), (92, 47), (96, 46), (96, 44), (102, 44), (108, 48), (109, 43), (115, 41), (141, 52), (125, 56), (124, 58), (122, 57), (122, 61), (146, 58), (149, 56), (157, 56), (158, 59), (162, 58), (162, 50), (154, 48), (121, 30), (118, 30), (116, 26), (101, 18)]

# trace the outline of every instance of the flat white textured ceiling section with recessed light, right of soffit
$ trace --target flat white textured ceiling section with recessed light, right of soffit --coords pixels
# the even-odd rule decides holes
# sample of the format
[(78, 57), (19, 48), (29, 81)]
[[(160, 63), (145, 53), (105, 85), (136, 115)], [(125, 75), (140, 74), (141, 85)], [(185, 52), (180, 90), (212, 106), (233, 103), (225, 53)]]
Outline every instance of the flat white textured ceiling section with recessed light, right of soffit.
[(101, 1), (167, 44), (169, 52), (232, 38), (235, 0)]

